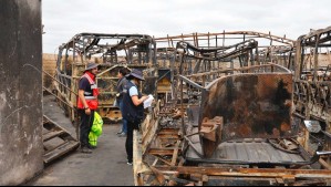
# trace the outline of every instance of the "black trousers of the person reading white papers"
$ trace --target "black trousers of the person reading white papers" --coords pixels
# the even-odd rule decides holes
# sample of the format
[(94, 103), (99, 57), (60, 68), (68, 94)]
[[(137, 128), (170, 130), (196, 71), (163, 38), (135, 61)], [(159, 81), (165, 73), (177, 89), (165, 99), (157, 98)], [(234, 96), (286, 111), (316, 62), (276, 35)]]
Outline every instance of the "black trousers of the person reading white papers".
[(133, 160), (133, 131), (139, 129), (139, 121), (130, 122), (127, 121), (127, 134), (126, 134), (126, 142), (125, 142), (125, 149), (127, 154), (127, 162), (132, 163)]

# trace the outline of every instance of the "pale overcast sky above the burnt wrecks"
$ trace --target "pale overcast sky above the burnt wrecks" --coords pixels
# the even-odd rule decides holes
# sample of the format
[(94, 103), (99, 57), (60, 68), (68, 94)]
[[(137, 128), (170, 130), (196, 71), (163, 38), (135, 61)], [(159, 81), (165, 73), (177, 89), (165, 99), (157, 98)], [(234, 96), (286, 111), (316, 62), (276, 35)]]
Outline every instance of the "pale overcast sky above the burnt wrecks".
[(81, 32), (257, 31), (297, 40), (331, 25), (330, 0), (42, 0), (43, 53)]

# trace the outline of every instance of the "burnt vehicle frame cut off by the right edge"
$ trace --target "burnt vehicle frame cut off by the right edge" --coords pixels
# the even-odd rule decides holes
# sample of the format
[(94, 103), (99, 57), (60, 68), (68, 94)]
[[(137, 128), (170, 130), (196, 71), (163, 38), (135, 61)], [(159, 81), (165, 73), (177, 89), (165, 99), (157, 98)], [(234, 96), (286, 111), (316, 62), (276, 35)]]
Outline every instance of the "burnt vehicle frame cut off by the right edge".
[[(331, 169), (331, 27), (311, 31), (296, 42), (294, 116), (301, 124), (300, 142), (308, 152), (324, 144), (320, 163)], [(319, 131), (309, 132), (306, 125)]]

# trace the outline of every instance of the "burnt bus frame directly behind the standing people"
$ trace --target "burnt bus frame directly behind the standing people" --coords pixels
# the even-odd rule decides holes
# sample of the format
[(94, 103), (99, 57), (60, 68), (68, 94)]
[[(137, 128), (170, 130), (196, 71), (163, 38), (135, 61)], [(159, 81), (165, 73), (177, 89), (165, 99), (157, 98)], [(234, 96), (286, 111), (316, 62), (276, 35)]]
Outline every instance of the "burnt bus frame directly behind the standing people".
[(96, 83), (100, 89), (97, 112), (105, 123), (122, 120), (115, 106), (117, 72), (121, 67), (142, 70), (146, 81), (144, 94), (156, 94), (158, 71), (156, 43), (145, 34), (79, 33), (59, 48), (54, 92), (72, 121), (76, 121), (77, 82), (87, 62), (100, 64)]

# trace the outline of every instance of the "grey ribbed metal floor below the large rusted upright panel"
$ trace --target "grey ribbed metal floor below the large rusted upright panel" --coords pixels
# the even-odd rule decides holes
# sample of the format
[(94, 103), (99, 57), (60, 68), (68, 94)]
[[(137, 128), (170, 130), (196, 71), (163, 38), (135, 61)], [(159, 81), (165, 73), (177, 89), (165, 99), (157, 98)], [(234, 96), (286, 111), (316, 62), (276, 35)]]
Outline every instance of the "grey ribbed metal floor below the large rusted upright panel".
[[(196, 146), (200, 145), (197, 143)], [(289, 166), (310, 164), (310, 158), (306, 155), (308, 153), (299, 145), (297, 153), (289, 153), (265, 139), (242, 139), (221, 143), (209, 158), (201, 158), (193, 150), (187, 152), (186, 158), (200, 163)]]

